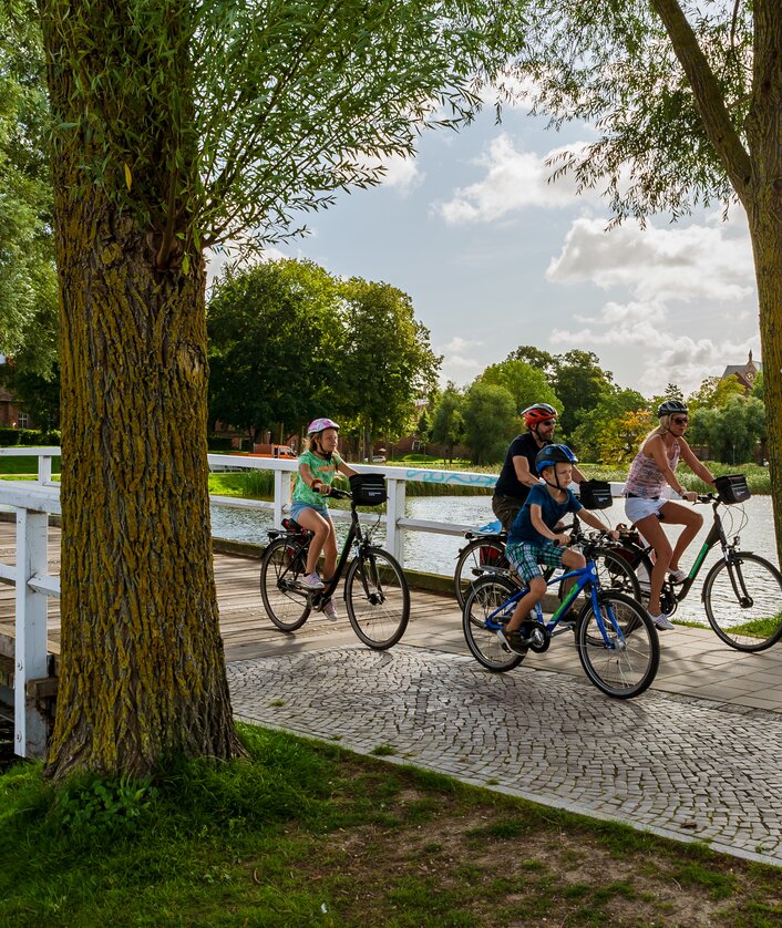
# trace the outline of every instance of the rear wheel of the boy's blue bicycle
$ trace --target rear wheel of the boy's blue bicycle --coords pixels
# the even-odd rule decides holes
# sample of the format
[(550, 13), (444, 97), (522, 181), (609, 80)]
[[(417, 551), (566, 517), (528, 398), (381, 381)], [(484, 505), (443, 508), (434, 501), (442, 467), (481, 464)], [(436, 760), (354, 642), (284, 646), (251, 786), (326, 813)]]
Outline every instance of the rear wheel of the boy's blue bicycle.
[(503, 604), (518, 592), (518, 587), (506, 577), (485, 576), (476, 580), (462, 611), (462, 631), (473, 657), (487, 670), (501, 673), (513, 670), (524, 660), (523, 654), (506, 651), (497, 640), (497, 628), (513, 615), (515, 602), (511, 602), (497, 616)]

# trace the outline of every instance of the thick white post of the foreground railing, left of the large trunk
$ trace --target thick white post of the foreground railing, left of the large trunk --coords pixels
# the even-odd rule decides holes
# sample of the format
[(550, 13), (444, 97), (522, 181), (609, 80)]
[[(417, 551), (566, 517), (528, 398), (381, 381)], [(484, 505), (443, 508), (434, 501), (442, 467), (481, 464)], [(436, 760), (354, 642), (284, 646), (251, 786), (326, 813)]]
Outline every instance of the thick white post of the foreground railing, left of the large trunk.
[(43, 757), (47, 723), (27, 695), (28, 680), (45, 677), (47, 595), (29, 586), (47, 573), (49, 515), (17, 511), (16, 658), (13, 670), (14, 752), (22, 757)]

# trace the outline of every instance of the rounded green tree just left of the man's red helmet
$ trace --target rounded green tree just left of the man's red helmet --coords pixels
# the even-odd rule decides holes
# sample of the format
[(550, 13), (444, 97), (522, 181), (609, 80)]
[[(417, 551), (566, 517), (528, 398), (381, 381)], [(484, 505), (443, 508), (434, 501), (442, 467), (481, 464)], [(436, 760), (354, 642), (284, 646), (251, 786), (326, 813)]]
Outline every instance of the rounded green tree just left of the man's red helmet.
[(465, 394), (462, 417), (473, 464), (502, 461), (518, 424), (511, 393), (504, 386), (479, 380)]

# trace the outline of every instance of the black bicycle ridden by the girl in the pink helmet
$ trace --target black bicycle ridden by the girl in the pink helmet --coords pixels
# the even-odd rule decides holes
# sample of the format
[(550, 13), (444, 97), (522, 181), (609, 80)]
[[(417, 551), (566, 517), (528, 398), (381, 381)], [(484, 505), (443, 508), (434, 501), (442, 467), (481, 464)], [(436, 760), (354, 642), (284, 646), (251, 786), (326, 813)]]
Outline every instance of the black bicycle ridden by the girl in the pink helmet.
[[(410, 621), (410, 587), (401, 566), (387, 550), (372, 544), (380, 525), (362, 527), (357, 505), (379, 505), (385, 502), (384, 487), (380, 494), (367, 492), (368, 476), (353, 485), (353, 492), (331, 487), (331, 496), (350, 499), (350, 529), (333, 577), (322, 590), (306, 589), (300, 585), (306, 574), (307, 554), (312, 533), (291, 518), (284, 519), (280, 529), (269, 530), (269, 545), (260, 565), (260, 596), (271, 621), (280, 631), (296, 631), (312, 611), (321, 611), (344, 578), (344, 601), (353, 631), (364, 645), (378, 651), (395, 645)], [(351, 478), (353, 484), (353, 478)], [(377, 484), (373, 485), (377, 488)], [(348, 564), (351, 550), (356, 554)]]

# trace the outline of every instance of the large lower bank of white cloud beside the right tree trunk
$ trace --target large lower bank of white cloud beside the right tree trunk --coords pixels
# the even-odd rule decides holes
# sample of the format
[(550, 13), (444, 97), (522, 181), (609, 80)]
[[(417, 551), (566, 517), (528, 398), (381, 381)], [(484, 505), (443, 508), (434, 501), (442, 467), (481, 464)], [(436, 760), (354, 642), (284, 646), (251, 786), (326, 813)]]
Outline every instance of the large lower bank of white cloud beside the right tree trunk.
[(707, 216), (703, 224), (685, 228), (642, 230), (628, 224), (608, 233), (599, 220), (578, 218), (546, 276), (617, 291), (597, 312), (574, 316), (578, 330), (551, 332), (551, 343), (598, 353), (606, 348), (626, 360), (646, 394), (669, 382), (690, 392), (707, 377), (721, 374), (726, 364), (743, 362), (750, 349), (759, 352), (743, 215), (730, 223)]

